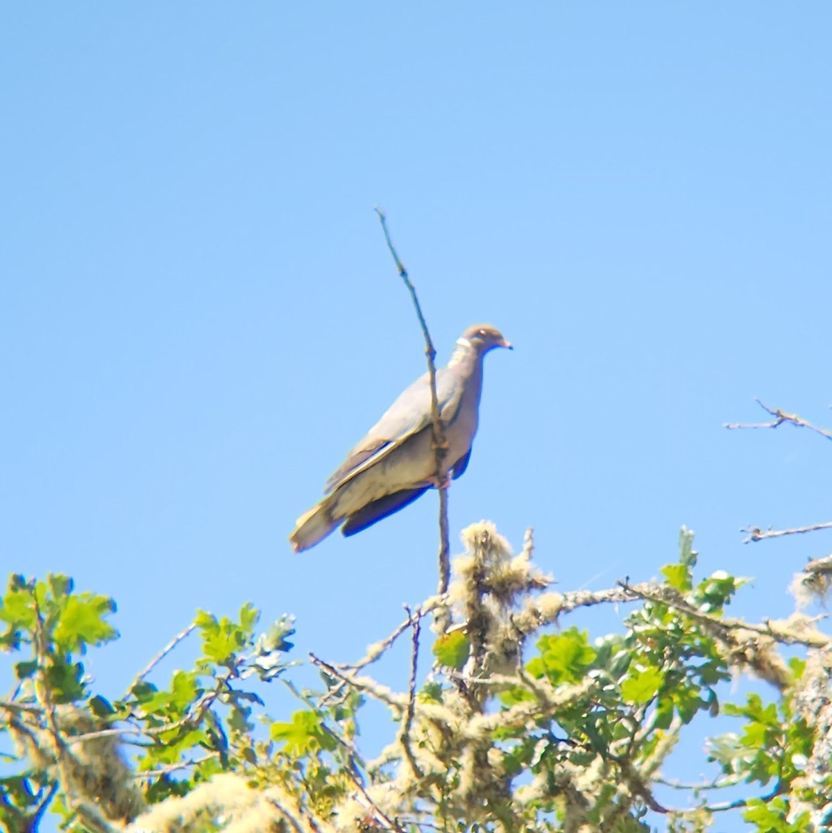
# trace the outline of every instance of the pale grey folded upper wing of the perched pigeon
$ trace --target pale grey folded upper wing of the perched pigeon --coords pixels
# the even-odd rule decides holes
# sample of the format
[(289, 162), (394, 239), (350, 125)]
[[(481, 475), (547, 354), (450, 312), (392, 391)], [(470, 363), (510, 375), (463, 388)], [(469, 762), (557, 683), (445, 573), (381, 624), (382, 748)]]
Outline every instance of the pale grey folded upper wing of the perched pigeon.
[[(436, 399), (441, 420), (446, 424), (456, 416), (465, 387), (465, 379), (455, 371), (455, 367), (442, 367), (436, 371)], [(425, 374), (400, 394), (364, 439), (350, 451), (341, 467), (326, 481), (324, 493), (328, 494), (360, 471), (365, 471), (430, 424), (431, 383), (428, 374)]]

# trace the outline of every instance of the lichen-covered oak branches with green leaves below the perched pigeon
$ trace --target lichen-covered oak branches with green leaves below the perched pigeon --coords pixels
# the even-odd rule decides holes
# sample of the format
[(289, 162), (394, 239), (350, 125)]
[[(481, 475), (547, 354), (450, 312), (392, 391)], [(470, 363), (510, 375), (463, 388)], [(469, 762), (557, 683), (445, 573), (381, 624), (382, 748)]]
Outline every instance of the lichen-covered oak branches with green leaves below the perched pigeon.
[[(531, 535), (516, 556), (485, 522), (463, 540), (446, 595), (356, 664), (313, 658), (320, 691), (291, 681), (291, 619), (260, 633), (246, 605), (234, 618), (199, 612), (122, 696), (106, 697), (92, 691), (82, 658), (117, 640), (112, 600), (75, 591), (67, 576), (12, 576), (0, 604), (14, 676), (0, 701), (11, 771), (0, 779), (2, 826), (37, 831), (51, 812), (73, 833), (635, 833), (706, 831), (735, 811), (757, 831), (823, 829), (832, 658), (813, 621), (726, 616), (745, 580), (697, 576), (685, 529), (661, 581), (596, 592), (548, 590)], [(609, 604), (632, 606), (620, 632), (591, 638), (565, 622)], [(420, 687), (427, 616), (441, 632)], [(366, 666), (408, 633), (411, 687), (391, 691)], [(192, 668), (153, 682), (162, 656), (192, 636)], [(802, 646), (803, 657), (786, 661), (784, 645)], [(725, 683), (741, 674), (770, 684), (769, 696), (726, 702)], [(263, 701), (274, 681), (298, 698), (280, 720)], [(358, 746), (367, 698), (397, 727), (374, 761)], [(675, 785), (668, 806), (657, 797), (670, 795), (665, 764), (692, 724), (701, 736), (718, 715), (720, 727), (737, 728), (710, 738), (713, 782)], [(713, 799), (729, 788), (745, 795)]]

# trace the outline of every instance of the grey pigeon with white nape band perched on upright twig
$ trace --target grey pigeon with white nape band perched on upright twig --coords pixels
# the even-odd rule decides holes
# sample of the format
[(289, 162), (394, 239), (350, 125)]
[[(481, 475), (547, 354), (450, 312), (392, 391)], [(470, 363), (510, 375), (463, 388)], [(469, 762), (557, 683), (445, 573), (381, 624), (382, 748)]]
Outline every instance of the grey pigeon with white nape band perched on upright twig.
[(301, 515), (289, 536), (296, 552), (308, 550), (341, 526), (355, 535), (421, 497), (446, 488), (466, 470), (476, 434), (482, 360), (511, 342), (490, 324), (468, 327), (446, 367), (436, 371), (436, 399), (445, 434), (442, 471), (436, 471), (430, 374), (416, 379), (393, 402), (326, 481), (324, 497)]

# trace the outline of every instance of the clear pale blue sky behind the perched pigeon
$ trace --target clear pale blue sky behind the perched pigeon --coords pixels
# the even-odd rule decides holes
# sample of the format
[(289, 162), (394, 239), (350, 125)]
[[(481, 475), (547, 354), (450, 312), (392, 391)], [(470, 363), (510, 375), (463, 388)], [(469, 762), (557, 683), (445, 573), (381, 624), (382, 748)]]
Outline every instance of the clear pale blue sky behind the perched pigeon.
[[(436, 586), (436, 496), (303, 556), (326, 476), (469, 324), (481, 428), (451, 529), (560, 587), (704, 572), (790, 611), (830, 520), (832, 7), (7, 4), (0, 563), (114, 596), (113, 695), (198, 607), (348, 661)], [(582, 620), (586, 624), (590, 620)], [(0, 681), (2, 682), (2, 681)], [(2, 686), (5, 689), (7, 686)]]

